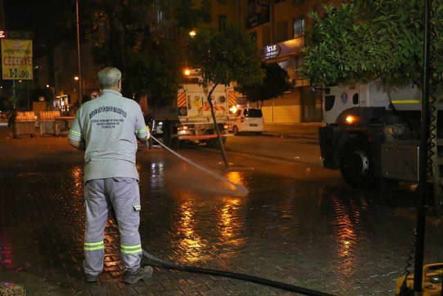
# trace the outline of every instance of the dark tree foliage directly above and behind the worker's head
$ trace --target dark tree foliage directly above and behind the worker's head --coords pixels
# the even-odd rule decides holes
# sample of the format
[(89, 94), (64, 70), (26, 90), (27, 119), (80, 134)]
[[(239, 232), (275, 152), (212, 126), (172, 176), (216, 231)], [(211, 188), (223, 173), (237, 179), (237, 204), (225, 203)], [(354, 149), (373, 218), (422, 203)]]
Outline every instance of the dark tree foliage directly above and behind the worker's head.
[[(123, 94), (147, 94), (150, 104), (177, 97), (183, 54), (179, 42), (164, 40), (167, 26), (184, 31), (210, 19), (208, 0), (89, 0), (85, 19), (94, 60), (122, 70)], [(159, 11), (163, 19), (159, 20)], [(176, 19), (177, 18), (177, 19)], [(172, 23), (171, 23), (172, 21)]]

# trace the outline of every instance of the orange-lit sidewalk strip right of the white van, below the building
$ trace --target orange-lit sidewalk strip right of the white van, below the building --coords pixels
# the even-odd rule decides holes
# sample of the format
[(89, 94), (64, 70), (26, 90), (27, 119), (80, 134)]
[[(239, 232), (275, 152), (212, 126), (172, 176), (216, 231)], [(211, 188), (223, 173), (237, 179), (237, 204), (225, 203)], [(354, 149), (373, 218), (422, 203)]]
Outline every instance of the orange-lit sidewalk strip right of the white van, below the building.
[(324, 123), (264, 124), (262, 135), (291, 139), (318, 139), (318, 128), (323, 125)]

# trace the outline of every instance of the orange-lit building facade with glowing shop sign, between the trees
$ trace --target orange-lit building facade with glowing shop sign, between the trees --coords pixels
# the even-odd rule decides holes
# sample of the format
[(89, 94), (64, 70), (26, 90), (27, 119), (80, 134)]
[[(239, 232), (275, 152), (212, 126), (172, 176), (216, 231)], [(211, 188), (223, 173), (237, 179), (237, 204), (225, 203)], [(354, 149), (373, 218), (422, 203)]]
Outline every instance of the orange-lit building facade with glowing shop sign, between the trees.
[(243, 0), (245, 29), (255, 40), (262, 59), (278, 63), (289, 74), (293, 90), (266, 101), (265, 123), (294, 124), (322, 121), (322, 93), (300, 75), (304, 56), (305, 28), (309, 12), (323, 15), (323, 6), (339, 5), (333, 0)]

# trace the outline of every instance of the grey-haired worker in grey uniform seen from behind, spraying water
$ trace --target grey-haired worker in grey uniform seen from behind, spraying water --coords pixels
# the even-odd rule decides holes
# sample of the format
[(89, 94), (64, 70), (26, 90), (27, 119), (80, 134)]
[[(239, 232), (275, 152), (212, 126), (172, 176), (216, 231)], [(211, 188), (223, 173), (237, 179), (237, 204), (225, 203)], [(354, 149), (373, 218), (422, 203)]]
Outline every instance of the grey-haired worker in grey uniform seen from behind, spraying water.
[(142, 248), (138, 225), (141, 204), (136, 168), (137, 140), (146, 143), (150, 132), (141, 107), (124, 98), (122, 75), (113, 67), (98, 71), (102, 92), (84, 103), (69, 130), (69, 144), (84, 150), (84, 280), (97, 281), (103, 270), (103, 236), (111, 207), (120, 231), (124, 281), (135, 284), (152, 275), (141, 267)]

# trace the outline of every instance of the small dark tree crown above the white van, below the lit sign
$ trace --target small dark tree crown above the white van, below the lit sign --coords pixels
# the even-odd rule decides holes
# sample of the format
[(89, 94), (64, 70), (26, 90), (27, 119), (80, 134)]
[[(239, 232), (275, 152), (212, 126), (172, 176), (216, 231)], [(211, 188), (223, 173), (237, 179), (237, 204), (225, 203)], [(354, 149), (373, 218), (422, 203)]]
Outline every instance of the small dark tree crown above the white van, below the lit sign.
[(291, 89), (287, 71), (278, 64), (262, 63), (262, 68), (266, 74), (260, 83), (239, 87), (239, 92), (244, 94), (250, 102), (263, 103), (271, 98), (282, 96), (284, 92)]

